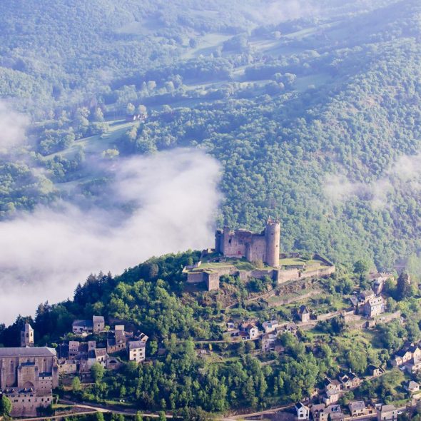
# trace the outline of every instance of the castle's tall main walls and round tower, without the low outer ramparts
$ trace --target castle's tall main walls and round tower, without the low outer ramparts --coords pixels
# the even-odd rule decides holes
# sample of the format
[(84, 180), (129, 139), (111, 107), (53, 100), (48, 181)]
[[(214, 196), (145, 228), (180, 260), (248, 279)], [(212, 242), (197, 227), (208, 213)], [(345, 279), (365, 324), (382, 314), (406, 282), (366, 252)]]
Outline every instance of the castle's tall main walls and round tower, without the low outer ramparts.
[(280, 253), (280, 222), (268, 218), (261, 233), (249, 230), (216, 230), (215, 251), (228, 258), (246, 258), (249, 262), (261, 261), (277, 268)]

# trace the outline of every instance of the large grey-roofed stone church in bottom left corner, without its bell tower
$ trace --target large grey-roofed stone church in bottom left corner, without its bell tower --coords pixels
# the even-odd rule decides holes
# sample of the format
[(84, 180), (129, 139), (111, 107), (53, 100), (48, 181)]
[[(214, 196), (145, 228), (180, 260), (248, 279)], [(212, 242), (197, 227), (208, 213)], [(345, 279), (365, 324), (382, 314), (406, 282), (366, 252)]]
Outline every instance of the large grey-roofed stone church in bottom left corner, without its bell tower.
[(0, 390), (11, 400), (12, 416), (35, 416), (39, 408), (51, 404), (58, 385), (56, 350), (0, 348)]

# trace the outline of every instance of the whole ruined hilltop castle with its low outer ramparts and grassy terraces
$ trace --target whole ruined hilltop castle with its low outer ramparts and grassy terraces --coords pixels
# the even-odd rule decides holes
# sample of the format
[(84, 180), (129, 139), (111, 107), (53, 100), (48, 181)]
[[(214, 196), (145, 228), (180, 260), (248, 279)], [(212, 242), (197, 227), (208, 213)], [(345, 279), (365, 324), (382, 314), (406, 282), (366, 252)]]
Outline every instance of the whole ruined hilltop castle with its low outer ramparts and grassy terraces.
[(208, 290), (217, 290), (223, 275), (241, 280), (271, 278), (279, 285), (334, 272), (335, 266), (318, 254), (301, 258), (299, 253), (280, 253), (280, 222), (273, 218), (260, 233), (228, 226), (216, 230), (215, 248), (203, 250), (198, 263), (183, 269), (188, 283), (206, 283)]

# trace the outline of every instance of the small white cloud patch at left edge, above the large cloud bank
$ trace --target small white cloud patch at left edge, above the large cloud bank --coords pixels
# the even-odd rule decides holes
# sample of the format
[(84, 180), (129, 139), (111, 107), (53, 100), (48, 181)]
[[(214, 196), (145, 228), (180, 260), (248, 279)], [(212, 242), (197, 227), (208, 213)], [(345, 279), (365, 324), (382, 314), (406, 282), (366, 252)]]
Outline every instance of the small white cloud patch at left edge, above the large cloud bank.
[(0, 153), (24, 142), (28, 124), (27, 116), (14, 111), (7, 101), (0, 100)]

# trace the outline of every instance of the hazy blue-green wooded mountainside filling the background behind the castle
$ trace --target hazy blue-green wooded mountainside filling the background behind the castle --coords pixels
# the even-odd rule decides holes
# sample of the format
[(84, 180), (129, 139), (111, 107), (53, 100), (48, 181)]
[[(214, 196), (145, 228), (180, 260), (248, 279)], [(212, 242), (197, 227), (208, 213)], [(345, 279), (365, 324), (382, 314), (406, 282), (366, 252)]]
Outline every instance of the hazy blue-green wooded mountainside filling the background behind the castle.
[(419, 252), (418, 1), (167, 3), (1, 5), (0, 95), (32, 121), (1, 218), (95, 196), (94, 158), (188, 146), (223, 166), (218, 223), (275, 215), (284, 250), (379, 269)]

